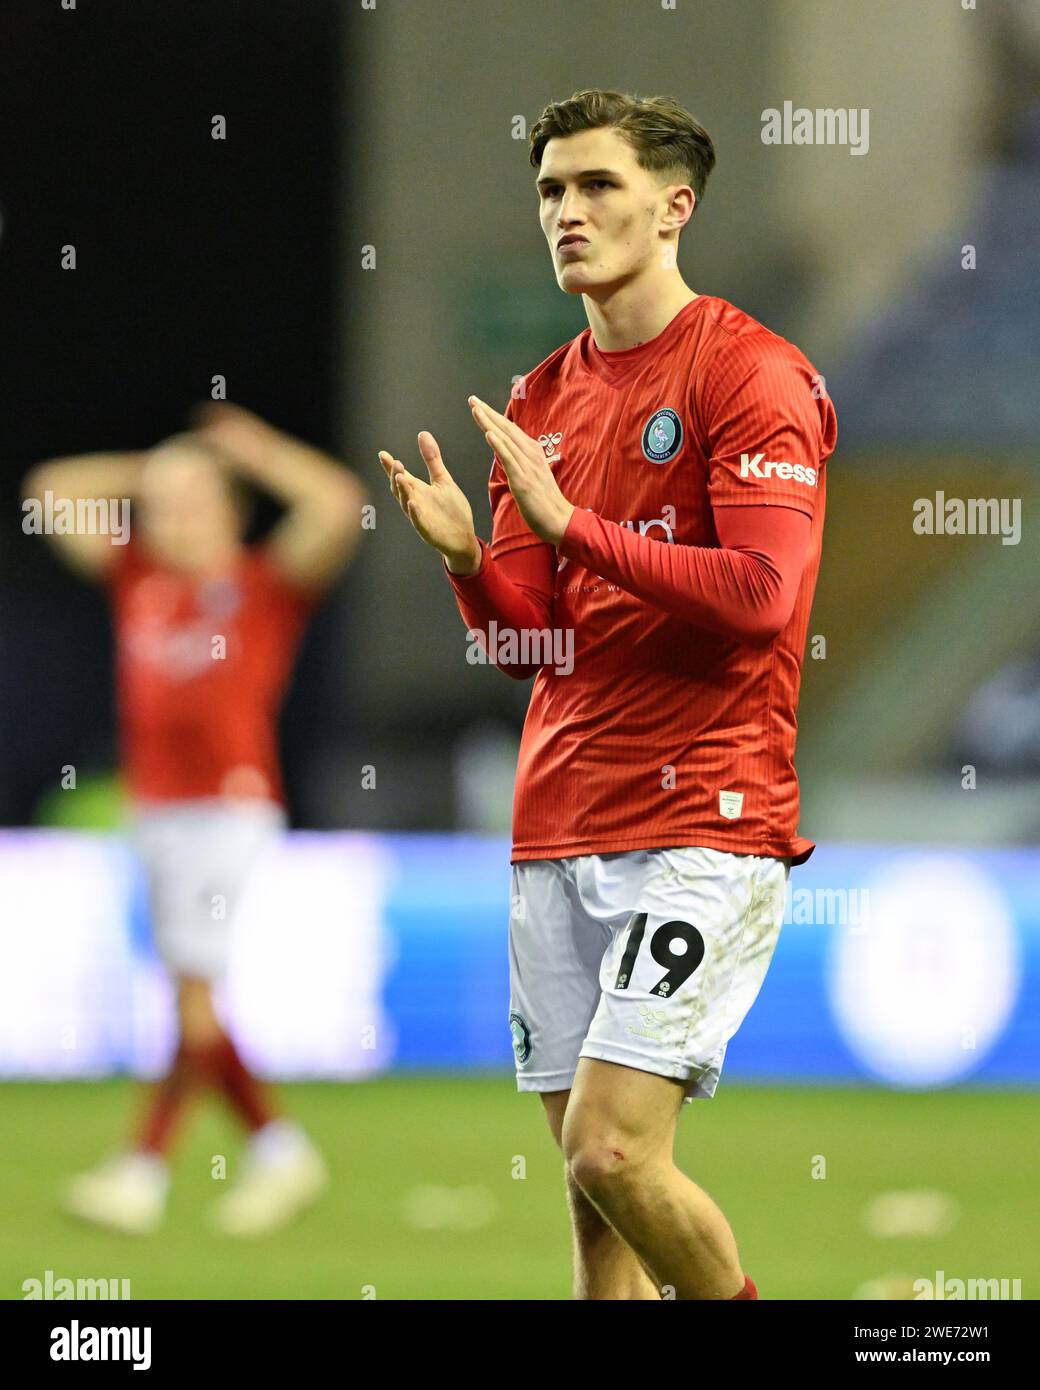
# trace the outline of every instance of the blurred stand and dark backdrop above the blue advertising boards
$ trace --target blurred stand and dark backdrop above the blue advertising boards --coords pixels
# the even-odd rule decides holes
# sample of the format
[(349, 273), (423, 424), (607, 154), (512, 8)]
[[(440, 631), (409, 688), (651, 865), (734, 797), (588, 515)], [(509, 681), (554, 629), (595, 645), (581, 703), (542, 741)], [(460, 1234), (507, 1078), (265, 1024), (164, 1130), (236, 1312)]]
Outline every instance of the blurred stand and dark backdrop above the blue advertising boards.
[[(1001, 592), (1033, 592), (1036, 548), (959, 546), (911, 520), (939, 489), (1022, 498), (1026, 517), (1036, 505), (1034, 7), (922, 0), (901, 11), (901, 47), (865, 0), (635, 14), (623, 0), (0, 7), (0, 824), (47, 801), (82, 816), (89, 798), (58, 794), (61, 769), (83, 787), (117, 763), (104, 599), (22, 535), (19, 480), (47, 457), (153, 445), (220, 375), (231, 400), (349, 463), (378, 510), (285, 703), (295, 824), (507, 828), (530, 685), (467, 663), (438, 557), (375, 450), (421, 475), (416, 432), (434, 431), (489, 535), (489, 453), (466, 396), (502, 403), (585, 327), (546, 259), (517, 120), (606, 83), (672, 92), (706, 122), (719, 165), (684, 277), (795, 342), (837, 406), (811, 628), (831, 642), (806, 659), (799, 708), (805, 826), (1032, 834), (1036, 792), (1009, 778), (1037, 767), (1036, 606), (991, 594), (997, 570)], [(765, 107), (843, 93), (872, 113), (869, 157), (762, 142)], [(987, 774), (970, 813), (965, 763)]]

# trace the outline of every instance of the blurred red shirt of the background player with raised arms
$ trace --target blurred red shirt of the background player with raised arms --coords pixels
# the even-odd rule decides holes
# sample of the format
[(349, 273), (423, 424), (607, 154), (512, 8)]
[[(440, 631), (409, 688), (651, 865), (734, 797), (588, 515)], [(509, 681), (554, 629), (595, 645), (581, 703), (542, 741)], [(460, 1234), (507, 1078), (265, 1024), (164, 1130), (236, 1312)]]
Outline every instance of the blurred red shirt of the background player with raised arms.
[(131, 794), (281, 801), (278, 706), (314, 596), (263, 546), (243, 549), (229, 575), (197, 580), (133, 542), (110, 591)]

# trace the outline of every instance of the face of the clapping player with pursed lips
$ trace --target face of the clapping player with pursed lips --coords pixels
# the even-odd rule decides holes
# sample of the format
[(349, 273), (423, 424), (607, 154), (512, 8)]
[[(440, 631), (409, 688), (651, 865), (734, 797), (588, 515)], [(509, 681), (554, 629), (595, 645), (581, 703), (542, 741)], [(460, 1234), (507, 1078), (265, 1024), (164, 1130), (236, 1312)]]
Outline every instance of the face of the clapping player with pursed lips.
[[(640, 168), (617, 131), (549, 140), (538, 170), (538, 202), (560, 289), (598, 297), (662, 267), (667, 245), (662, 218), (674, 188)], [(567, 236), (580, 239), (560, 245)]]

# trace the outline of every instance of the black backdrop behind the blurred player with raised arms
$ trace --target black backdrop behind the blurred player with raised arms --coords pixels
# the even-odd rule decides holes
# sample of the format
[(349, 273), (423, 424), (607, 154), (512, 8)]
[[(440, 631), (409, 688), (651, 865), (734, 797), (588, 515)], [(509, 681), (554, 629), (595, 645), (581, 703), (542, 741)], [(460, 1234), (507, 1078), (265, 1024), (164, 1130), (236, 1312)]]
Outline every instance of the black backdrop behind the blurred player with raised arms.
[[(114, 758), (103, 595), (21, 531), (46, 457), (147, 448), (227, 378), (228, 399), (335, 449), (342, 6), (124, 0), (8, 7), (0, 29), (0, 821), (60, 767)], [(227, 139), (211, 138), (214, 115)], [(75, 270), (63, 270), (74, 246)], [(273, 513), (271, 513), (273, 514)], [(259, 524), (270, 523), (261, 513)], [(314, 678), (350, 580), (311, 627), (282, 719), (296, 821), (349, 712)], [(341, 648), (342, 649), (342, 648)], [(334, 708), (335, 706), (335, 708)]]

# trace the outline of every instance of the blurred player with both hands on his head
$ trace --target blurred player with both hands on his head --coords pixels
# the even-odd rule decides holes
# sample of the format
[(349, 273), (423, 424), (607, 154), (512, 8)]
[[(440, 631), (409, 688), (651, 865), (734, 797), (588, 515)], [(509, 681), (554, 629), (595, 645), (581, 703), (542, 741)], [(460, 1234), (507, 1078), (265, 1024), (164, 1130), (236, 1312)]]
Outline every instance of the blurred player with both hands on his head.
[[(263, 543), (247, 546), (253, 488), (285, 512)], [(211, 1087), (250, 1133), (214, 1220), (228, 1234), (259, 1234), (317, 1197), (325, 1165), (239, 1056), (214, 987), (250, 866), (285, 824), (278, 708), (307, 619), (357, 543), (364, 491), (317, 449), (214, 404), (197, 413), (192, 432), (149, 453), (40, 464), (25, 493), (47, 492), (133, 503), (127, 545), (108, 535), (51, 539), (111, 598), (133, 841), (179, 1023), (172, 1065), (132, 1147), (75, 1179), (65, 1207), (122, 1232), (154, 1230), (185, 1106)]]

